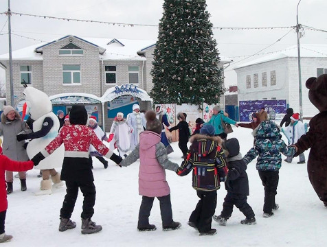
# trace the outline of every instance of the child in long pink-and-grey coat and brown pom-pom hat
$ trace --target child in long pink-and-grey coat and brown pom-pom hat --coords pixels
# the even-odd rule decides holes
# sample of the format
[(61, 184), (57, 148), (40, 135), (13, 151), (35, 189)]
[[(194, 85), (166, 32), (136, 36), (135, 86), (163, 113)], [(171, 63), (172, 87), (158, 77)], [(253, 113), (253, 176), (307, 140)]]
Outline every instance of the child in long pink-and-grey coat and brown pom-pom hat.
[(155, 231), (154, 224), (149, 224), (149, 215), (155, 197), (160, 202), (162, 228), (164, 231), (175, 230), (181, 223), (172, 220), (170, 189), (166, 181), (165, 169), (177, 171), (179, 165), (168, 160), (165, 145), (161, 140), (161, 122), (153, 110), (146, 112), (146, 130), (139, 134), (139, 143), (120, 165), (126, 167), (139, 158), (139, 195), (142, 196), (139, 208), (138, 231)]

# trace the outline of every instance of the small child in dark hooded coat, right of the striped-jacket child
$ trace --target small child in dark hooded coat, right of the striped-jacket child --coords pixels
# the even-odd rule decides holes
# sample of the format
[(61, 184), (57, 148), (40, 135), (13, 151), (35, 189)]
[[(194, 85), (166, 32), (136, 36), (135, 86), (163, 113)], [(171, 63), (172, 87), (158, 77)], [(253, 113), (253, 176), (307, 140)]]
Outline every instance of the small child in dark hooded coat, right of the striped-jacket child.
[(223, 150), (227, 156), (227, 167), (229, 169), (225, 180), (225, 189), (227, 195), (223, 203), (223, 211), (221, 215), (214, 215), (214, 220), (219, 225), (225, 226), (226, 221), (231, 217), (234, 205), (240, 209), (245, 215), (245, 220), (241, 220), (241, 224), (256, 224), (254, 212), (249, 204), (247, 204), (247, 196), (249, 196), (249, 180), (247, 178), (247, 165), (240, 154), (240, 144), (236, 138), (228, 139), (223, 142)]

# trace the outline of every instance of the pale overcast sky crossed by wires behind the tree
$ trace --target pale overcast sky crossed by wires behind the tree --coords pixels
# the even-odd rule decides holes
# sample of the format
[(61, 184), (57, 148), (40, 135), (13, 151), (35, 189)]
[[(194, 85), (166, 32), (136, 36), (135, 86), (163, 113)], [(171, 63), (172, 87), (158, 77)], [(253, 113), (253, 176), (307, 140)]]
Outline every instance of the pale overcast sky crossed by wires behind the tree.
[[(69, 19), (86, 19), (113, 23), (157, 25), (162, 16), (163, 0), (11, 0), (12, 12), (56, 16)], [(296, 25), (298, 0), (207, 0), (207, 10), (214, 27), (289, 27)], [(8, 0), (0, 0), (0, 12), (8, 10)], [(299, 23), (327, 31), (326, 0), (302, 0), (298, 8)], [(8, 53), (7, 16), (0, 15), (0, 54)], [(67, 34), (81, 37), (157, 39), (158, 27), (123, 27), (118, 25), (59, 21), (30, 16), (12, 16), (12, 33), (37, 40), (50, 41)], [(237, 65), (297, 45), (295, 30), (220, 30), (214, 38), (223, 57)], [(287, 34), (289, 32), (289, 34)], [(287, 34), (285, 36), (285, 34)], [(284, 36), (284, 38), (282, 38)], [(275, 43), (277, 40), (280, 41)], [(12, 35), (12, 49), (21, 49), (41, 43)], [(275, 45), (272, 45), (275, 43)], [(327, 32), (305, 30), (300, 43), (326, 44)], [(269, 45), (272, 45), (269, 47)], [(269, 47), (268, 49), (264, 49)], [(140, 47), (141, 48), (141, 47)], [(251, 56), (256, 54), (260, 56)], [(237, 56), (241, 56), (237, 58)], [(326, 54), (327, 56), (327, 54)], [(243, 60), (238, 62), (239, 60)], [(236, 84), (233, 66), (225, 70), (225, 82)], [(0, 71), (3, 77), (3, 71)]]

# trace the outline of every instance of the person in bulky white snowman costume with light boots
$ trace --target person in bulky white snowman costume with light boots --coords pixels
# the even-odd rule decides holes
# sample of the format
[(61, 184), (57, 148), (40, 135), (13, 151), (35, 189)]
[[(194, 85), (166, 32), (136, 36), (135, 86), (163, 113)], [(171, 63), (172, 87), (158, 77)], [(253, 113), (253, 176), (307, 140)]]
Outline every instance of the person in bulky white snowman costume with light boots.
[[(49, 144), (58, 134), (59, 130), (59, 120), (58, 117), (52, 112), (52, 103), (49, 97), (35, 89), (32, 86), (28, 86), (23, 91), (25, 97), (26, 108), (23, 115), (30, 114), (30, 117), (33, 121), (32, 123), (32, 133), (23, 134), (24, 139), (32, 139), (26, 148), (27, 155), (29, 158), (33, 158), (35, 154), (43, 150), (47, 144)], [(48, 126), (51, 126), (49, 128)], [(45, 158), (43, 161), (36, 166), (36, 169), (52, 169), (52, 181), (54, 182), (55, 187), (60, 187), (63, 183), (60, 181), (60, 175), (53, 170), (55, 167), (61, 167), (63, 165), (65, 148), (61, 145), (55, 152), (50, 156)], [(51, 173), (50, 173), (51, 174)], [(56, 174), (54, 176), (54, 174)], [(52, 193), (52, 183), (51, 180), (41, 181), (41, 191), (43, 193), (39, 194), (49, 194)], [(38, 195), (38, 193), (36, 193)]]

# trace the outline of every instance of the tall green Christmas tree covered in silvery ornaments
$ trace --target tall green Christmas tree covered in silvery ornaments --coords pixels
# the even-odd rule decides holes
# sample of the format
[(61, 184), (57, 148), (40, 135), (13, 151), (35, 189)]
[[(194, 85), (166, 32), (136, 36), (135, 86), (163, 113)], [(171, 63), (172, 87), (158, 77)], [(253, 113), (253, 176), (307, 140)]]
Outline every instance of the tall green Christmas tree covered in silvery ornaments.
[(165, 0), (151, 71), (155, 103), (215, 104), (224, 93), (206, 7), (205, 0)]

